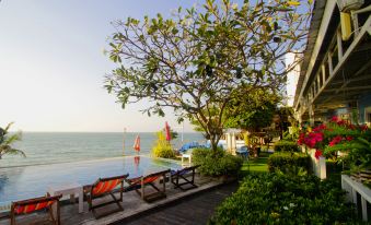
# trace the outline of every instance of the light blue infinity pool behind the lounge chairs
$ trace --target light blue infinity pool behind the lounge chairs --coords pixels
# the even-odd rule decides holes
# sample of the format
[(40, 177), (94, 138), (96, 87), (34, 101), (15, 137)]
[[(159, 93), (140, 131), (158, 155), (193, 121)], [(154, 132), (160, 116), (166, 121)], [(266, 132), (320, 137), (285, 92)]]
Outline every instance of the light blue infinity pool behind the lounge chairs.
[(48, 186), (77, 181), (93, 183), (100, 177), (129, 174), (148, 175), (182, 166), (173, 161), (148, 156), (126, 156), (98, 161), (84, 161), (50, 165), (0, 168), (0, 205), (11, 201), (45, 196)]

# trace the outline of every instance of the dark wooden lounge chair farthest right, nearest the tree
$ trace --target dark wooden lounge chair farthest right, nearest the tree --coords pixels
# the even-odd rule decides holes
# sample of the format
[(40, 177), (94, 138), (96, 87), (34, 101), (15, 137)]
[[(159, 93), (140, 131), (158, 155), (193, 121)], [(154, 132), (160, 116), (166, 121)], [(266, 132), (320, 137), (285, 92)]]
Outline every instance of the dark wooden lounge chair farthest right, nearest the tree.
[[(179, 170), (172, 170), (171, 181), (175, 186), (175, 188), (179, 188), (184, 191), (193, 189), (193, 188), (197, 188), (197, 186), (195, 185), (195, 174), (196, 174), (197, 167), (199, 167), (199, 165), (185, 167)], [(192, 177), (190, 179), (188, 178), (189, 176)], [(185, 188), (184, 186), (188, 186), (188, 187)]]

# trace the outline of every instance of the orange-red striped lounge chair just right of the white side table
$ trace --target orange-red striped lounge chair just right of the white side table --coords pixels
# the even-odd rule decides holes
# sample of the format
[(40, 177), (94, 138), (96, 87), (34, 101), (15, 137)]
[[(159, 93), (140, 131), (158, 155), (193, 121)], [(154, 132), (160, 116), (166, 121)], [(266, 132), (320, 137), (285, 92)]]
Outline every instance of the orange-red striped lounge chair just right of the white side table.
[[(107, 178), (100, 178), (97, 179), (92, 186), (85, 186), (84, 187), (84, 193), (88, 199), (89, 204), (89, 211), (92, 211), (95, 218), (100, 218), (102, 216), (124, 211), (124, 208), (120, 205), (120, 201), (123, 201), (123, 191), (124, 191), (124, 179), (126, 179), (129, 175), (123, 175), (123, 176), (116, 176), (116, 177), (107, 177)], [(119, 188), (119, 199), (117, 199), (114, 194), (114, 190), (117, 186), (120, 186)], [(111, 196), (113, 198), (112, 201), (106, 201), (97, 204), (93, 204), (94, 199), (100, 199), (106, 196)], [(95, 209), (102, 208), (108, 204), (117, 204), (117, 210), (113, 212), (108, 212), (105, 214), (97, 215), (95, 212)]]

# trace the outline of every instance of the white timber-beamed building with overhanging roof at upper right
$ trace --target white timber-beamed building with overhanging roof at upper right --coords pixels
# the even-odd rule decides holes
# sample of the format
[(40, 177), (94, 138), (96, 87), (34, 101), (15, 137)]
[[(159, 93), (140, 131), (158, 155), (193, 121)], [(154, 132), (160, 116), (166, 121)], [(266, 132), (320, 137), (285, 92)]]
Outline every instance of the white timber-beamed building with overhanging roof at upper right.
[(371, 1), (315, 1), (293, 98), (299, 121), (371, 122)]

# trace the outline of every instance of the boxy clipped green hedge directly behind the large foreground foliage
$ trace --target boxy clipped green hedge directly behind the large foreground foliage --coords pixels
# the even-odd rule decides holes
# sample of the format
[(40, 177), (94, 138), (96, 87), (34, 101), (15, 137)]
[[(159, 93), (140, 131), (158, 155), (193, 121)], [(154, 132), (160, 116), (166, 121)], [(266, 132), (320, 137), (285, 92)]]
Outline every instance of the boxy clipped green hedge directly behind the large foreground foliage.
[(278, 152), (268, 157), (269, 171), (288, 171), (295, 168), (311, 169), (311, 156), (305, 153)]

